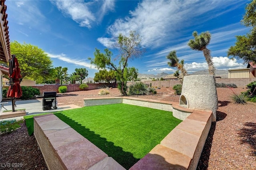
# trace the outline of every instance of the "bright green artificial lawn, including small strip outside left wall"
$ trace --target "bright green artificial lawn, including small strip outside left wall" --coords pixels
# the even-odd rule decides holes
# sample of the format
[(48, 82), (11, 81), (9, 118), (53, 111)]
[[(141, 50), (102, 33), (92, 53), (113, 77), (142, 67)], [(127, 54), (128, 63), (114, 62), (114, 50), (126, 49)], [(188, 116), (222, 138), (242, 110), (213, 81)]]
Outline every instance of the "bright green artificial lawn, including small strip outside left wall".
[[(54, 114), (126, 169), (181, 122), (172, 112), (128, 104), (89, 106)], [(33, 116), (24, 116), (30, 133)]]

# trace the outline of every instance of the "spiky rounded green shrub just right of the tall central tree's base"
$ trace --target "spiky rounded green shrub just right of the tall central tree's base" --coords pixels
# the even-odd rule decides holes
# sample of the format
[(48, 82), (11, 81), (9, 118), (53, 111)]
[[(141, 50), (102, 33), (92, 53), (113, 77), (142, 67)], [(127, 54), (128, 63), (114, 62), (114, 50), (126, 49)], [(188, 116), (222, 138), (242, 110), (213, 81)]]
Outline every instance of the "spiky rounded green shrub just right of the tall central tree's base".
[(135, 82), (129, 87), (129, 95), (145, 95), (148, 93), (148, 86), (142, 82)]

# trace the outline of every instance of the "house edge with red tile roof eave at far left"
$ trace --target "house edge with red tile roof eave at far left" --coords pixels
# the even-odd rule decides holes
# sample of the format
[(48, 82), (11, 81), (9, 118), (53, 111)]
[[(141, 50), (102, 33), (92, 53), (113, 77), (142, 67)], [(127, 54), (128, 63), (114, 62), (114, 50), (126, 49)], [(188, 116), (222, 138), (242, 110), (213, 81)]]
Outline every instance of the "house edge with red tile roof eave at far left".
[[(4, 4), (4, 0), (0, 0), (0, 60), (2, 62), (7, 63), (9, 58), (11, 58), (10, 52), (10, 38), (8, 31), (8, 20), (6, 14), (6, 5)], [(3, 74), (8, 74), (8, 68), (0, 67), (0, 102), (2, 101), (2, 76)]]

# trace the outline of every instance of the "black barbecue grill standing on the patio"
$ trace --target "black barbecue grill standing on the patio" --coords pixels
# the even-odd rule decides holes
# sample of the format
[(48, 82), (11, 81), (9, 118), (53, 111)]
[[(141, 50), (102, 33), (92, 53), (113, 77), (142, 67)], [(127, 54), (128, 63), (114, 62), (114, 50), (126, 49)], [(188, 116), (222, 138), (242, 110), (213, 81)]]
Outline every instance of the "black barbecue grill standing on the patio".
[(56, 96), (56, 92), (43, 92), (43, 110), (57, 109)]

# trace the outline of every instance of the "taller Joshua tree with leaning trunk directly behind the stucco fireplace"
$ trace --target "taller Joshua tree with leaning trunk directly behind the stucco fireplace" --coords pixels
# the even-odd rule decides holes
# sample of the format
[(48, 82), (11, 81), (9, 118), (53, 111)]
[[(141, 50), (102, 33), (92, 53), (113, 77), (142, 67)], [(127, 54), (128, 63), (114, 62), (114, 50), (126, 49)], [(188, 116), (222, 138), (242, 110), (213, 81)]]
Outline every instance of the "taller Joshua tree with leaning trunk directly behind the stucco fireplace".
[(206, 48), (206, 46), (208, 46), (211, 40), (210, 32), (206, 31), (198, 35), (198, 33), (194, 31), (192, 35), (194, 36), (195, 39), (194, 40), (190, 39), (188, 41), (188, 46), (190, 46), (192, 50), (203, 51), (205, 60), (208, 64), (209, 73), (211, 75), (215, 75), (215, 67), (212, 62), (211, 52), (208, 48)]

